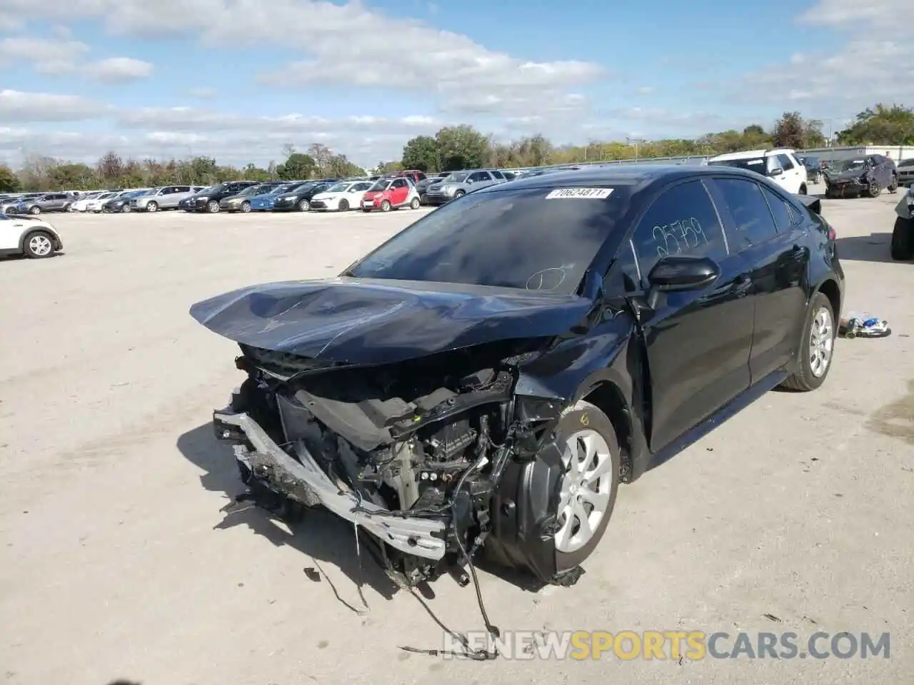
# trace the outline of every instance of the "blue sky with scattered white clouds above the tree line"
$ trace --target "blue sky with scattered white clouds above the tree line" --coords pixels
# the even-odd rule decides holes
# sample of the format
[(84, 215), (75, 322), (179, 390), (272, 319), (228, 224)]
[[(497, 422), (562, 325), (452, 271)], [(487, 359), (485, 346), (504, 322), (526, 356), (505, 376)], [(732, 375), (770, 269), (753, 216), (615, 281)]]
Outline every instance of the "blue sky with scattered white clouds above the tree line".
[(914, 103), (911, 0), (620, 5), (0, 0), (0, 158), (265, 164), (324, 142), (372, 165), (458, 122), (564, 143)]

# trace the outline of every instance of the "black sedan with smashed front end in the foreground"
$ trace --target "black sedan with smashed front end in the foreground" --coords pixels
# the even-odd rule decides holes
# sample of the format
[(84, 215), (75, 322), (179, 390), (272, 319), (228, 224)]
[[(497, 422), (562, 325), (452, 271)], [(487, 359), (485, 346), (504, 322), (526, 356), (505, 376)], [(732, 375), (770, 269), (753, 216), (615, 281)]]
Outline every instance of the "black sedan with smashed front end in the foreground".
[(844, 273), (820, 211), (724, 167), (484, 188), (337, 278), (195, 304), (245, 376), (216, 435), (245, 499), (332, 511), (400, 585), (480, 557), (572, 585), (620, 484), (824, 383)]

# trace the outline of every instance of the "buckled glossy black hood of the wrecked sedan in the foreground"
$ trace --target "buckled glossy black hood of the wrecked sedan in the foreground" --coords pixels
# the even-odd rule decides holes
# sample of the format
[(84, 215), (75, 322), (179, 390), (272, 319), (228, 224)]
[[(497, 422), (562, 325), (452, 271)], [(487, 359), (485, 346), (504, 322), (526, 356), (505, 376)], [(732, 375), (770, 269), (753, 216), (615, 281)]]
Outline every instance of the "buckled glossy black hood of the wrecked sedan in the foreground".
[(550, 337), (583, 321), (578, 295), (388, 279), (285, 281), (197, 302), (229, 340), (325, 361), (389, 364), (484, 342)]

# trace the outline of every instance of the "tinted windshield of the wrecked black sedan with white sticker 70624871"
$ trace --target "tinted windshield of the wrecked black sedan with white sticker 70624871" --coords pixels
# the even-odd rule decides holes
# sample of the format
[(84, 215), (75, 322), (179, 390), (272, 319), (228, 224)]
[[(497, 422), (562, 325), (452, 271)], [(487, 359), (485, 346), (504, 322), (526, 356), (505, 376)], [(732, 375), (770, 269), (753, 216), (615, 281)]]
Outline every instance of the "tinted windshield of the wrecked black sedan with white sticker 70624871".
[(563, 198), (548, 197), (555, 188), (501, 187), (466, 195), (420, 218), (346, 275), (577, 291), (628, 205), (629, 189), (606, 189), (605, 198)]

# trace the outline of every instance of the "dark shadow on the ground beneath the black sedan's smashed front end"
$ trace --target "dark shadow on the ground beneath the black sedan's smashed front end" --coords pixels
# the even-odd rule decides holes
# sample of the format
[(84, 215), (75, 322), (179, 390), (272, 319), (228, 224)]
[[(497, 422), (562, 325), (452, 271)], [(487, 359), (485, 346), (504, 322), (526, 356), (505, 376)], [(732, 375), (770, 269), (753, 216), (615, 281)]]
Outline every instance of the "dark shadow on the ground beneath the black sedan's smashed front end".
[[(337, 589), (324, 573), (323, 564), (335, 565), (358, 588), (359, 595), (364, 601), (361, 588), (370, 586), (387, 600), (399, 590), (377, 564), (375, 558), (367, 552), (366, 545), (359, 545), (356, 551), (355, 528), (352, 524), (337, 518), (332, 513), (323, 509), (309, 509), (304, 512), (301, 521), (283, 521), (289, 532), (276, 524), (279, 518), (270, 511), (254, 506), (253, 502), (236, 502), (235, 498), (244, 492), (245, 487), (239, 478), (238, 467), (228, 445), (220, 443), (213, 435), (212, 424), (199, 426), (187, 431), (177, 439), (177, 448), (181, 454), (195, 464), (204, 473), (200, 476), (200, 484), (213, 492), (219, 492), (226, 497), (226, 506), (222, 508), (225, 518), (218, 523), (216, 528), (228, 529), (237, 525), (245, 525), (251, 531), (262, 535), (275, 545), (287, 544), (303, 553), (303, 566), (305, 575), (314, 582), (323, 580), (331, 586), (336, 598), (341, 604), (351, 611), (361, 613), (364, 607), (352, 606), (342, 599)], [(363, 532), (363, 534), (365, 534)], [(360, 536), (361, 537), (361, 536)], [(495, 575), (501, 581), (515, 585), (527, 592), (537, 592), (543, 585), (537, 583), (525, 574), (515, 574), (500, 567), (488, 564), (484, 559), (476, 560), (476, 567), (485, 573)], [(453, 582), (447, 576), (441, 576), (437, 583)], [(430, 617), (438, 622), (424, 600), (434, 599), (435, 593), (432, 585), (421, 584), (415, 588), (413, 595), (422, 603)], [(469, 589), (469, 588), (468, 588)]]

